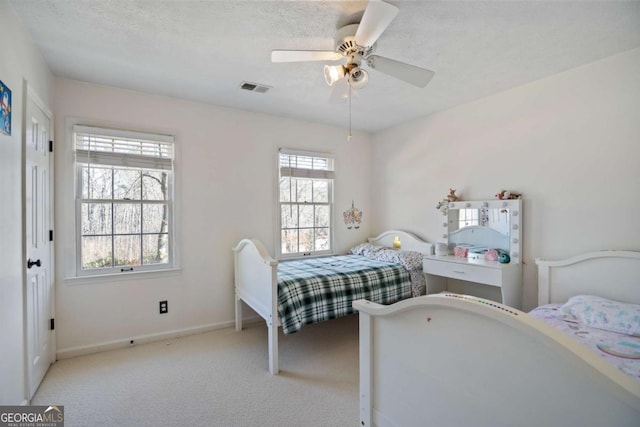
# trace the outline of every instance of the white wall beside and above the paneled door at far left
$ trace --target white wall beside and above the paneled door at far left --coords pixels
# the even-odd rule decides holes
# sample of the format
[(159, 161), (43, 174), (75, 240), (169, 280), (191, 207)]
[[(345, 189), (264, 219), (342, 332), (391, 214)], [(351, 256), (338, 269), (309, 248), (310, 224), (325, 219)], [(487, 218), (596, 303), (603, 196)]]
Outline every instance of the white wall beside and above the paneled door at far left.
[(51, 74), (6, 0), (0, 0), (0, 80), (11, 89), (11, 136), (0, 133), (0, 405), (24, 403), (22, 256), (23, 79), (50, 106)]

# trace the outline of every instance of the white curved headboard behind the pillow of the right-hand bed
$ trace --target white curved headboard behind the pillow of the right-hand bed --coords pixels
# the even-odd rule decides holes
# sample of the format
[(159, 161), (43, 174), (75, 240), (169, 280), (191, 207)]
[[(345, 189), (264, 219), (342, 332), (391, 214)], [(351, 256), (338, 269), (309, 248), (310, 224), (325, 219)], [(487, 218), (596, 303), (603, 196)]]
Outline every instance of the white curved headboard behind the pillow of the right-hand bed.
[(640, 252), (588, 252), (558, 261), (536, 259), (538, 305), (597, 295), (640, 304)]

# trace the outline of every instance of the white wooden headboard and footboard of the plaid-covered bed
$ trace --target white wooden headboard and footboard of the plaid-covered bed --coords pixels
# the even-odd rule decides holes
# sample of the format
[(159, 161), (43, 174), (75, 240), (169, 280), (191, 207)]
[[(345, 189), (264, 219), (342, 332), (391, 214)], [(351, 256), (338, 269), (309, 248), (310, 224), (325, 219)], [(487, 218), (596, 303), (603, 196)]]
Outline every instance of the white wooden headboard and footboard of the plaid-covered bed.
[[(369, 243), (393, 246), (395, 236), (400, 238), (403, 250), (433, 253), (433, 245), (405, 231), (385, 231), (369, 238)], [(256, 239), (243, 239), (233, 248), (235, 269), (236, 331), (242, 330), (242, 301), (266, 322), (269, 341), (269, 372), (277, 374), (278, 367), (278, 261), (273, 259), (264, 245)]]

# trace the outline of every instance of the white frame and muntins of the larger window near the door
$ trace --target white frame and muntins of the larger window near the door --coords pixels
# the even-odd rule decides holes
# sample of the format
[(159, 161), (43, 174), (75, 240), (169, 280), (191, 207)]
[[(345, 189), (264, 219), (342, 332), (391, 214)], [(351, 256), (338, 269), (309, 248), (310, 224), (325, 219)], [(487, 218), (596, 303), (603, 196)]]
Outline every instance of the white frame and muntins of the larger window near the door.
[[(116, 199), (115, 195), (112, 194), (110, 199), (91, 199), (83, 197), (83, 168), (84, 165), (87, 164), (87, 161), (83, 158), (86, 155), (87, 150), (78, 150), (76, 146), (77, 133), (92, 133), (94, 135), (104, 136), (107, 138), (127, 138), (141, 141), (150, 141), (152, 143), (162, 143), (170, 146), (171, 153), (168, 158), (164, 158), (162, 166), (154, 166), (154, 157), (150, 157), (148, 162), (145, 162), (145, 159), (140, 156), (135, 155), (127, 155), (127, 154), (113, 154), (107, 152), (106, 162), (96, 162), (92, 163), (89, 155), (89, 164), (95, 166), (97, 168), (106, 168), (111, 171), (115, 170), (134, 170), (139, 171), (140, 173), (144, 173), (144, 171), (154, 171), (154, 172), (168, 172), (168, 182), (167, 182), (167, 199), (166, 200), (144, 200), (142, 197), (140, 199)], [(176, 147), (175, 147), (175, 139), (172, 135), (160, 134), (160, 133), (149, 133), (149, 132), (138, 132), (138, 131), (129, 131), (122, 130), (111, 127), (97, 127), (91, 125), (84, 124), (74, 124), (70, 128), (70, 150), (72, 152), (72, 165), (73, 167), (73, 200), (74, 200), (74, 215), (72, 222), (73, 233), (75, 235), (74, 239), (74, 276), (77, 278), (86, 278), (86, 277), (96, 277), (96, 276), (126, 276), (128, 274), (138, 274), (145, 272), (163, 272), (174, 270), (178, 266), (177, 262), (177, 237), (176, 237), (176, 197), (175, 197), (175, 186), (176, 186)], [(99, 155), (96, 155), (99, 157)], [(136, 161), (136, 157), (138, 157)], [(131, 164), (128, 164), (127, 159), (131, 160)], [(122, 161), (123, 164), (118, 164), (118, 159)], [(170, 165), (170, 166), (167, 166)], [(113, 172), (112, 172), (113, 173)], [(113, 175), (112, 175), (113, 176)], [(113, 184), (112, 184), (113, 185)], [(142, 184), (144, 185), (144, 184)], [(159, 205), (166, 204), (168, 208), (168, 221), (167, 221), (167, 263), (159, 263), (159, 264), (147, 264), (147, 265), (112, 265), (111, 267), (100, 267), (100, 268), (92, 268), (92, 269), (84, 269), (82, 266), (82, 205), (83, 203), (108, 203), (111, 204), (112, 210), (118, 204), (139, 204), (140, 206), (140, 218), (143, 217), (142, 207), (144, 205)], [(112, 212), (113, 217), (113, 212)], [(133, 233), (135, 235), (140, 235), (141, 239), (144, 237), (144, 232), (142, 229), (142, 223), (140, 224), (141, 228), (139, 233)], [(113, 238), (118, 235), (126, 235), (127, 233), (116, 233), (114, 228), (115, 225), (112, 224), (111, 234), (110, 236)], [(157, 233), (151, 233), (157, 234)], [(143, 246), (140, 246), (140, 259), (144, 254)], [(114, 249), (112, 248), (111, 255), (114, 255)]]

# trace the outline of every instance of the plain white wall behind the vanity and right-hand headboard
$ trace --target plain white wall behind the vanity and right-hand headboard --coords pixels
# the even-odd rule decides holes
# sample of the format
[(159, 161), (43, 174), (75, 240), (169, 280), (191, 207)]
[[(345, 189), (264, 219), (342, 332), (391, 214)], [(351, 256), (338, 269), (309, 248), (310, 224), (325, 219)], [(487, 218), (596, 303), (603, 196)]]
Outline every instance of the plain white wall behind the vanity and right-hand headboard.
[(525, 309), (536, 257), (640, 249), (639, 76), (635, 49), (374, 135), (373, 230), (441, 241), (449, 188), (522, 192)]

